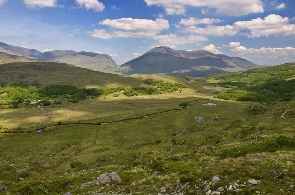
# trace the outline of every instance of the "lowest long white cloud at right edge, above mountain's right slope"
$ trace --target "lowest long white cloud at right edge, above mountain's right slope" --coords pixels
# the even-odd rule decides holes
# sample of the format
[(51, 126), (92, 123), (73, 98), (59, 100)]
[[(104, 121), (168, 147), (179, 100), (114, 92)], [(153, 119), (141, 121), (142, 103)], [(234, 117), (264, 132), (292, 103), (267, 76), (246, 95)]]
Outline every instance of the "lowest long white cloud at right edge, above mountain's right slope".
[(278, 58), (278, 57), (286, 57), (290, 55), (295, 55), (295, 48), (292, 47), (285, 47), (285, 48), (260, 48), (260, 49), (254, 49), (254, 48), (246, 48), (244, 46), (239, 46), (234, 49), (231, 49), (231, 51), (238, 53), (239, 55), (249, 55), (254, 54), (255, 58)]

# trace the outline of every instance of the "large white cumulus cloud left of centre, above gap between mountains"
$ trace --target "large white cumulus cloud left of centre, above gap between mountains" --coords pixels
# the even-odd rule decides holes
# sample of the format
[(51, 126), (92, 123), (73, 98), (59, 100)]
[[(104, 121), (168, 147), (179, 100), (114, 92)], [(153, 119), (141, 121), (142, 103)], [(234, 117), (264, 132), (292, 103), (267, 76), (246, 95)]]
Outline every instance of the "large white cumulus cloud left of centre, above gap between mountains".
[(110, 29), (95, 29), (87, 33), (91, 34), (92, 37), (101, 39), (130, 37), (152, 38), (162, 30), (169, 29), (168, 20), (162, 18), (158, 18), (155, 21), (133, 18), (106, 19), (97, 24), (109, 26)]

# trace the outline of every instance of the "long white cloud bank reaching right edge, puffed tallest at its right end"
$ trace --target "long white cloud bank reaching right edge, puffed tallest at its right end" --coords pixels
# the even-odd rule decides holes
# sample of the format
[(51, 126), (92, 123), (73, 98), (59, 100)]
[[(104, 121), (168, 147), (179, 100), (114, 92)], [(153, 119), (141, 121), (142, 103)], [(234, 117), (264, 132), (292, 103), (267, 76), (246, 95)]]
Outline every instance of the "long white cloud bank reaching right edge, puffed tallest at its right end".
[(237, 21), (233, 25), (216, 26), (207, 25), (204, 28), (189, 26), (182, 30), (185, 33), (203, 34), (212, 36), (246, 35), (248, 38), (274, 36), (288, 36), (295, 34), (295, 24), (292, 19), (270, 14), (263, 19), (256, 18), (249, 21)]

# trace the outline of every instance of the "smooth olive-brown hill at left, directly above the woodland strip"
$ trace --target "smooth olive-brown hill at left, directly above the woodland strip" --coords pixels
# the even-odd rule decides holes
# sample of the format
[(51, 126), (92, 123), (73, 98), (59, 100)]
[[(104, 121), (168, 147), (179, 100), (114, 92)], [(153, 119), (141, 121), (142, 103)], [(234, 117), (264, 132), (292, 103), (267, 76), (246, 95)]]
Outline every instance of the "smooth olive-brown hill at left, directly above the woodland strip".
[(0, 84), (39, 82), (87, 86), (140, 86), (141, 79), (103, 73), (55, 62), (19, 62), (0, 65)]

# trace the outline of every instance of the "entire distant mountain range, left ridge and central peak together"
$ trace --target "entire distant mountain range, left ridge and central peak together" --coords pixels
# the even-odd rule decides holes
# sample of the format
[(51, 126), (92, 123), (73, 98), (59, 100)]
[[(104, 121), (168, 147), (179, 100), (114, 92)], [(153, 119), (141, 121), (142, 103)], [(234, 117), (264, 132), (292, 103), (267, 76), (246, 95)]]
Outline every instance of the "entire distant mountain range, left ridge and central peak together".
[[(0, 52), (14, 56), (23, 56), (27, 58), (26, 60), (41, 59), (68, 63), (81, 68), (123, 75), (166, 74), (201, 77), (212, 73), (226, 73), (259, 67), (240, 57), (216, 55), (205, 50), (174, 50), (165, 46), (151, 49), (142, 56), (130, 60), (121, 66), (118, 66), (109, 55), (85, 51), (56, 50), (41, 53), (35, 49), (27, 49), (0, 42)], [(21, 61), (21, 59), (18, 60)]]

